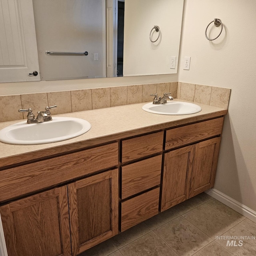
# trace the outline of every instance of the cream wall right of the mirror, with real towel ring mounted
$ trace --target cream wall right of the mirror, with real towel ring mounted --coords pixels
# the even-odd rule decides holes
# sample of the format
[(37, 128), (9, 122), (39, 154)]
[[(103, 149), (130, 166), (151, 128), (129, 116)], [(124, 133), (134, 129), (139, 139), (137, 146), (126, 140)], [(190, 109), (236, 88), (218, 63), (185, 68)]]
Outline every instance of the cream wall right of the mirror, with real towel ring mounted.
[[(220, 38), (206, 26), (220, 18)], [(211, 31), (214, 36), (218, 28)], [(186, 0), (179, 81), (231, 88), (214, 188), (256, 211), (256, 1)]]

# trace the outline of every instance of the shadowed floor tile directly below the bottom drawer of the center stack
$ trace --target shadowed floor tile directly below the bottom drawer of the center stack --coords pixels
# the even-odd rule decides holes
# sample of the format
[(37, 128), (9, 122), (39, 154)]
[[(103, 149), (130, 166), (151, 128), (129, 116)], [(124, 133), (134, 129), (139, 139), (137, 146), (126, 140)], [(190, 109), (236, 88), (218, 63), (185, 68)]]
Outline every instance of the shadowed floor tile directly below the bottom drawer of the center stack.
[(145, 234), (149, 233), (151, 230), (144, 224), (143, 222), (129, 228), (128, 230), (118, 234), (117, 236), (114, 236), (111, 238), (114, 245), (120, 249), (126, 244), (129, 244), (130, 242), (133, 242), (134, 240), (140, 238), (141, 236), (144, 236)]

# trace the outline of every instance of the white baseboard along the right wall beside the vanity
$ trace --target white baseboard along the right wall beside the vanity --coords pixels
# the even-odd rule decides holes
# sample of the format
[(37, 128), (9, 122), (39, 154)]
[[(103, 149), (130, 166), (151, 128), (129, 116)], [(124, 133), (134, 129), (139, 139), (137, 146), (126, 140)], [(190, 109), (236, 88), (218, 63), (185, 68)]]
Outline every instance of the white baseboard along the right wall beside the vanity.
[(244, 204), (241, 204), (240, 202), (234, 200), (233, 198), (223, 194), (219, 190), (216, 190), (215, 188), (211, 188), (207, 191), (205, 191), (206, 194), (212, 196), (216, 200), (222, 202), (223, 204), (226, 204), (226, 206), (232, 208), (236, 212), (242, 214), (249, 220), (252, 220), (253, 222), (256, 222), (256, 212), (249, 207), (245, 206)]

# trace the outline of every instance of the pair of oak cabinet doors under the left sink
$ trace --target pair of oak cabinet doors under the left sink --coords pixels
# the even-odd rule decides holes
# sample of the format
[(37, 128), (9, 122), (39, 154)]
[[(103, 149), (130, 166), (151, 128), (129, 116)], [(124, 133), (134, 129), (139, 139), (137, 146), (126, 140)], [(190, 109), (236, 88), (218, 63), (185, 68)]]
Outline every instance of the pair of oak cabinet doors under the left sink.
[(118, 169), (16, 200), (0, 213), (8, 255), (80, 254), (118, 234)]

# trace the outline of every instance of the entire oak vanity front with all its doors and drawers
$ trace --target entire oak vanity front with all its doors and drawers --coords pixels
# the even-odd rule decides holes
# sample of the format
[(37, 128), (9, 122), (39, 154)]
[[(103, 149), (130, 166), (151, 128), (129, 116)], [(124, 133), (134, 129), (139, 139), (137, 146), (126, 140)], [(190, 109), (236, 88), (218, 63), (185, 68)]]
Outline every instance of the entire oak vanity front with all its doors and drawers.
[(164, 126), (1, 170), (8, 255), (75, 256), (212, 188), (223, 121)]

